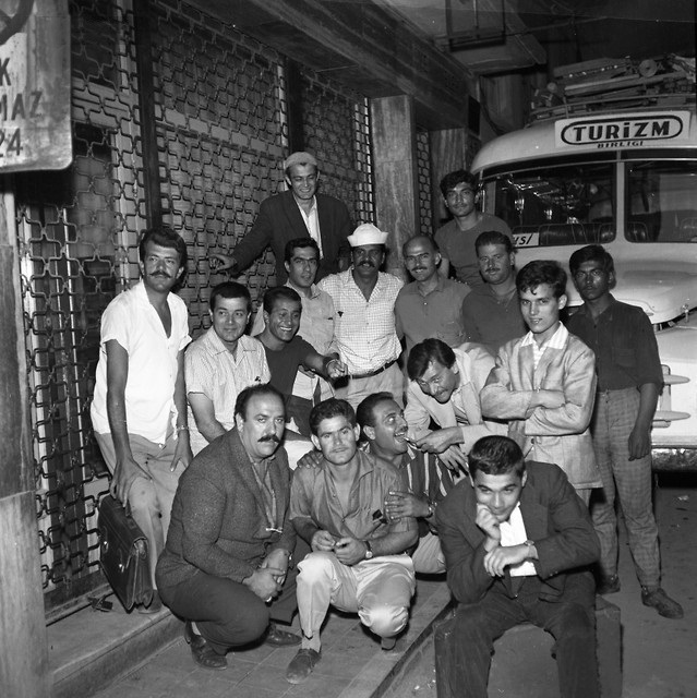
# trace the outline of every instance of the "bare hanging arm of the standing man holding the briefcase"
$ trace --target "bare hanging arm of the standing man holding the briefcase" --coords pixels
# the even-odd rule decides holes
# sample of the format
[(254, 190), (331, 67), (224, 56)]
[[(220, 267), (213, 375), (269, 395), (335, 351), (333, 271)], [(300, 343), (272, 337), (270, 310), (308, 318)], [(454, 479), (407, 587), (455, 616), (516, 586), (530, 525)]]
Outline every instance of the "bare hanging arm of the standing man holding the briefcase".
[(125, 418), (125, 384), (129, 377), (129, 352), (116, 340), (109, 339), (107, 350), (107, 416), (116, 452), (116, 467), (111, 480), (111, 494), (123, 504), (136, 478), (151, 480), (149, 474), (133, 459)]

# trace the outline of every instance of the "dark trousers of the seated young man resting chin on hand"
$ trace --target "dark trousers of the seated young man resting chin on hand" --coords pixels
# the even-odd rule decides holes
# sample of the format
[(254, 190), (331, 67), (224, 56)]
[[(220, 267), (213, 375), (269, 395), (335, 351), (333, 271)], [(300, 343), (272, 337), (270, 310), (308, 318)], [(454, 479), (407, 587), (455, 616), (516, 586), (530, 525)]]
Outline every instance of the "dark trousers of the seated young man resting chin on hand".
[(537, 581), (526, 579), (516, 599), (494, 585), (481, 601), (458, 606), (444, 662), (449, 667), (446, 682), (456, 687), (457, 695), (486, 698), (494, 640), (528, 622), (550, 633), (556, 641), (561, 697), (600, 697), (592, 606), (563, 599), (541, 601)]

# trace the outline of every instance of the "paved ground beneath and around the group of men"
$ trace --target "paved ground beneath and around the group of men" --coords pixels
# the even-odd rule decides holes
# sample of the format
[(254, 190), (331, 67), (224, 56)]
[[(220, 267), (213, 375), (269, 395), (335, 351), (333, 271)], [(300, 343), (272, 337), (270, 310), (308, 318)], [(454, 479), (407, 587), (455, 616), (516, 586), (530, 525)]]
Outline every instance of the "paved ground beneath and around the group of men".
[[(662, 476), (660, 485), (657, 516), (664, 587), (683, 604), (685, 618), (668, 621), (641, 605), (629, 551), (623, 544), (622, 591), (609, 597), (622, 611), (623, 697), (697, 698), (697, 478)], [(333, 614), (323, 636), (323, 660), (301, 686), (290, 686), (284, 678), (293, 649), (262, 646), (233, 652), (227, 671), (211, 672), (199, 669), (183, 639), (178, 639), (96, 698), (370, 698), (382, 693), (386, 698), (435, 698), (431, 640), (412, 654), (406, 650), (428, 633), (429, 618), (437, 615), (445, 599), (443, 582), (421, 581), (414, 619), (392, 652), (381, 651), (354, 616)], [(516, 698), (524, 695), (521, 687)]]

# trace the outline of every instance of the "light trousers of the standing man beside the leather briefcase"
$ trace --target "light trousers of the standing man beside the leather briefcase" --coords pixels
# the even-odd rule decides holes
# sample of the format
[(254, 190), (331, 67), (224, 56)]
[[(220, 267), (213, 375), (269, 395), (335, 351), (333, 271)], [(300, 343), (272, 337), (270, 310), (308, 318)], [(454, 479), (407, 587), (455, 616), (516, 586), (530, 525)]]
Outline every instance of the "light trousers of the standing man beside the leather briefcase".
[[(107, 468), (113, 474), (116, 450), (111, 434), (95, 433), (95, 437)], [(172, 502), (175, 501), (179, 477), (184, 471), (184, 468), (179, 462), (173, 472), (170, 470), (177, 446), (177, 441), (171, 435), (160, 445), (137, 434), (129, 434), (129, 443), (131, 444), (133, 460), (153, 478), (152, 480), (136, 478), (131, 484), (128, 500), (133, 520), (141, 527), (147, 538), (153, 588), (156, 588), (155, 566), (159, 554), (165, 549)]]

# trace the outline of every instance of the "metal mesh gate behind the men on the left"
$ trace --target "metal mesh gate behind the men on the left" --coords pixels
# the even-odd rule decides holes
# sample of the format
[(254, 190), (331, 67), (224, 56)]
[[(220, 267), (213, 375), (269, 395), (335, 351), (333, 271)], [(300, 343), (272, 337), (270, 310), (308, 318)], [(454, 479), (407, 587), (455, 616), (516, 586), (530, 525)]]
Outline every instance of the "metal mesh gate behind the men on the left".
[[(134, 0), (135, 1), (135, 0)], [(157, 148), (164, 219), (189, 244), (182, 298), (192, 336), (233, 249), (283, 182), (288, 154), (285, 59), (183, 2), (152, 3), (157, 143), (140, 123), (135, 21), (129, 0), (71, 0), (74, 163), (15, 179), (39, 546), (49, 619), (104, 583), (95, 508), (107, 490), (88, 405), (99, 321), (137, 278), (145, 227), (143, 148)], [(302, 71), (305, 147), (323, 191), (372, 220), (365, 99)], [(242, 277), (254, 298), (273, 282), (271, 252)]]

